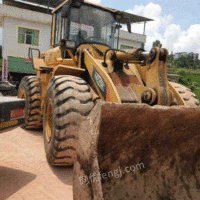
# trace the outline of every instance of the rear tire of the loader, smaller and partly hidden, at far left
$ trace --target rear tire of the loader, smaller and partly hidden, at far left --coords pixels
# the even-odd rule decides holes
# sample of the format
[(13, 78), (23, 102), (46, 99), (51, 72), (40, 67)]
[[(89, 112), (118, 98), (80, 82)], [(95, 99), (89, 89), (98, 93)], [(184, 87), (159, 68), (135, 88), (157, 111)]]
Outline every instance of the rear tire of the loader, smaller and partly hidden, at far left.
[(18, 97), (26, 99), (25, 128), (39, 129), (42, 127), (42, 116), (40, 110), (41, 101), (37, 97), (41, 95), (41, 86), (37, 76), (25, 76), (19, 85)]

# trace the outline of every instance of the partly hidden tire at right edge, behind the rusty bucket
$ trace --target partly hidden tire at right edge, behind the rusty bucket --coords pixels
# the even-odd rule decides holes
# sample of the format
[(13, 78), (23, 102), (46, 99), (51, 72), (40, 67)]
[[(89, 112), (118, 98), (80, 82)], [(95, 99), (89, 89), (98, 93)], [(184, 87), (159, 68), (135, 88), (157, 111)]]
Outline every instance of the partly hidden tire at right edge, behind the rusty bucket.
[(184, 99), (187, 106), (200, 106), (199, 100), (191, 89), (179, 84), (170, 82), (171, 85), (179, 92), (180, 96)]

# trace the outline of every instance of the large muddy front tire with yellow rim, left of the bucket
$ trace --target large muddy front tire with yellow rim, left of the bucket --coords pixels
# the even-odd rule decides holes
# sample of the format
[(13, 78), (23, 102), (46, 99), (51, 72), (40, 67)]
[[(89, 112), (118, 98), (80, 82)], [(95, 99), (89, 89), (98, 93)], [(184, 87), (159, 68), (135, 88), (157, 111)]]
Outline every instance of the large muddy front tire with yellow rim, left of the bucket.
[(52, 77), (44, 103), (43, 133), (52, 165), (74, 164), (79, 124), (94, 107), (87, 83), (74, 76)]

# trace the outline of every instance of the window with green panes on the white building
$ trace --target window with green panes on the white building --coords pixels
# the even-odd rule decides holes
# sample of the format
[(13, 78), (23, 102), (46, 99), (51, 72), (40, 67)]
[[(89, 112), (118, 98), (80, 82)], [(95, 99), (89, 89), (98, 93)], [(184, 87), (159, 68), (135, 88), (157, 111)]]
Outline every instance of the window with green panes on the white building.
[(39, 31), (34, 29), (18, 27), (18, 43), (39, 45)]

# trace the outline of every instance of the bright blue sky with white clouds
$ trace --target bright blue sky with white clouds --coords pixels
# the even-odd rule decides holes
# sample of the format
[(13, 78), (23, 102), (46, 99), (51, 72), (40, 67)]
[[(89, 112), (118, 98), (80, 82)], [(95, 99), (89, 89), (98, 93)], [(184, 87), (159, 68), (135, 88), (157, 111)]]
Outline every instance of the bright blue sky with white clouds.
[[(155, 40), (160, 40), (169, 52), (200, 53), (200, 1), (198, 0), (88, 0), (109, 8), (151, 18), (146, 24), (149, 51)], [(1, 0), (0, 0), (1, 3)], [(143, 24), (133, 24), (132, 32), (143, 33)], [(2, 44), (2, 29), (0, 29)]]

